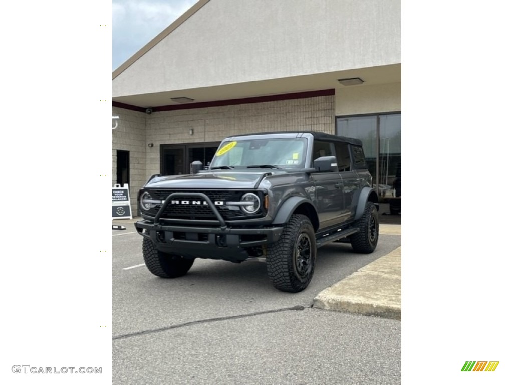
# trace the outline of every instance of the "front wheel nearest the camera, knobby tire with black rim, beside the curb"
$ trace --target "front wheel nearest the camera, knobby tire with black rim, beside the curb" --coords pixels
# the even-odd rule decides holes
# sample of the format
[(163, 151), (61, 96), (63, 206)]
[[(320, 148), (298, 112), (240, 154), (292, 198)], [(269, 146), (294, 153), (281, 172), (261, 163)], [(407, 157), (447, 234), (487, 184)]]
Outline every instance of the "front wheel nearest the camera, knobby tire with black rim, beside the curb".
[(267, 276), (283, 292), (301, 292), (310, 283), (317, 259), (315, 232), (306, 215), (292, 214), (278, 242), (267, 248)]

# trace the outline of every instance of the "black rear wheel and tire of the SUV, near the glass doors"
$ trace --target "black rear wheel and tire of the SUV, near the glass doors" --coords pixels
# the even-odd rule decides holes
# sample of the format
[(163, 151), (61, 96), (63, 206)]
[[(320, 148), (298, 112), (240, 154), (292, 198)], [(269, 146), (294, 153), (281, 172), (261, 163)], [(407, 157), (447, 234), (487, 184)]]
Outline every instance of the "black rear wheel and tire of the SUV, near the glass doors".
[(369, 254), (378, 245), (380, 234), (380, 221), (378, 209), (372, 202), (365, 204), (365, 211), (358, 220), (358, 233), (349, 236), (353, 251), (356, 253)]

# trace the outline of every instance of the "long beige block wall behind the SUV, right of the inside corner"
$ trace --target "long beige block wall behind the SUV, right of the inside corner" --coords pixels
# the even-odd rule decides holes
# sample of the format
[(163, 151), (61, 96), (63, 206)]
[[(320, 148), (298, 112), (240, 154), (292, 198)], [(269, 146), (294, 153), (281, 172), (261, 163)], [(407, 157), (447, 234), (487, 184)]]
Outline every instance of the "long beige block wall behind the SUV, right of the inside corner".
[[(317, 131), (334, 133), (334, 95), (154, 112), (146, 115), (147, 176), (160, 172), (160, 145), (220, 142), (243, 133)], [(189, 134), (190, 129), (194, 135)], [(152, 148), (148, 144), (153, 143)]]

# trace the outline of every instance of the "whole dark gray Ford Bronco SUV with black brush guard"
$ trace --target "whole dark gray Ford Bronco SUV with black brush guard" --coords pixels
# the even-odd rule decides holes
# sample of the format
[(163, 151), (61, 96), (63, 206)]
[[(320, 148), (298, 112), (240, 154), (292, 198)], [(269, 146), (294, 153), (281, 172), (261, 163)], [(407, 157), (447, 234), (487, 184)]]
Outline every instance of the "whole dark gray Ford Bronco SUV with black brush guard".
[(232, 136), (208, 170), (153, 176), (139, 197), (144, 261), (163, 278), (183, 276), (195, 258), (263, 257), (274, 287), (300, 292), (318, 247), (350, 242), (355, 252), (371, 253), (378, 243), (378, 194), (357, 139)]

